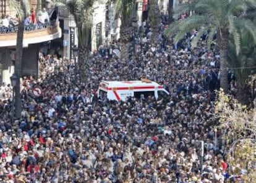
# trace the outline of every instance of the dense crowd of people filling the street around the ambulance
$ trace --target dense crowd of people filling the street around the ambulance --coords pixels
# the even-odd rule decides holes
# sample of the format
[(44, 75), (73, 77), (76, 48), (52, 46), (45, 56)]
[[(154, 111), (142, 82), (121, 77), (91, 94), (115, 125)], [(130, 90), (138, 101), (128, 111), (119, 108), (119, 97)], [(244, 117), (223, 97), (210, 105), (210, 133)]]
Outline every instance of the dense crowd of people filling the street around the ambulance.
[[(85, 83), (75, 80), (74, 60), (41, 57), (40, 77), (23, 77), (22, 119), (12, 124), (12, 88), (2, 85), (0, 182), (240, 182), (246, 170), (229, 165), (222, 131), (210, 120), (220, 55), (205, 38), (192, 49), (196, 31), (173, 44), (164, 27), (151, 44), (145, 22), (128, 61), (114, 54), (118, 41), (101, 46), (89, 57)], [(142, 77), (170, 96), (126, 102), (96, 96), (101, 80)], [(34, 86), (42, 96), (33, 96)]]

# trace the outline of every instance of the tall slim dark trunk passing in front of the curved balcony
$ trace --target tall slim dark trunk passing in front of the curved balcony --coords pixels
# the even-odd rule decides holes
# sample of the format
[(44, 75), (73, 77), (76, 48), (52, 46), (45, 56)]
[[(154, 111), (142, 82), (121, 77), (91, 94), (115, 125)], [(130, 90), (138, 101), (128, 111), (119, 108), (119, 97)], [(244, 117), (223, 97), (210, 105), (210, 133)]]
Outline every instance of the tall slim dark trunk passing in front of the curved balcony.
[(20, 6), (22, 8), (23, 17), (20, 17), (18, 32), (17, 32), (17, 43), (16, 43), (16, 53), (15, 53), (15, 75), (17, 76), (16, 86), (15, 86), (15, 118), (21, 118), (22, 112), (22, 101), (20, 96), (20, 78), (22, 77), (22, 55), (23, 55), (23, 32), (24, 32), (24, 18), (26, 14), (26, 7), (24, 0), (20, 1)]

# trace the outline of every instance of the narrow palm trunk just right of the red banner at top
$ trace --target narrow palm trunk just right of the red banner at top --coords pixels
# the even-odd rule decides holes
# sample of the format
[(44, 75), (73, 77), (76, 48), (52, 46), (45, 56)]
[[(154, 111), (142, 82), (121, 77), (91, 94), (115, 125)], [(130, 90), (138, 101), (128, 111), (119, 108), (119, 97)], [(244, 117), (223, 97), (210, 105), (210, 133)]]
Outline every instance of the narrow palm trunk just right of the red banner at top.
[(158, 36), (158, 26), (159, 23), (161, 23), (161, 14), (160, 8), (158, 6), (158, 1), (150, 1), (148, 18), (150, 20), (150, 27), (152, 29), (151, 43), (156, 43), (156, 39)]

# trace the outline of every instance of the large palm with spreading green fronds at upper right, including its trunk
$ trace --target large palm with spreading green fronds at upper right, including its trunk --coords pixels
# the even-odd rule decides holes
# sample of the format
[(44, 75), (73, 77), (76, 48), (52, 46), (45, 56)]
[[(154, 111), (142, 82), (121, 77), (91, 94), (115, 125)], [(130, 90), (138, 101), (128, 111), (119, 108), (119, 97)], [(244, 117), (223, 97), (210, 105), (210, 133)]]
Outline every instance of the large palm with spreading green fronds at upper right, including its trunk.
[(184, 38), (184, 35), (197, 29), (197, 36), (192, 41), (192, 47), (197, 44), (200, 37), (208, 33), (208, 46), (212, 43), (213, 36), (217, 35), (216, 44), (220, 49), (220, 76), (221, 87), (228, 91), (228, 43), (231, 36), (236, 45), (236, 53), (241, 51), (240, 28), (247, 30), (256, 43), (256, 25), (246, 12), (256, 6), (255, 0), (194, 0), (179, 4), (175, 16), (184, 12), (194, 12), (193, 15), (182, 21), (176, 21), (166, 30), (167, 35), (174, 35), (174, 41)]

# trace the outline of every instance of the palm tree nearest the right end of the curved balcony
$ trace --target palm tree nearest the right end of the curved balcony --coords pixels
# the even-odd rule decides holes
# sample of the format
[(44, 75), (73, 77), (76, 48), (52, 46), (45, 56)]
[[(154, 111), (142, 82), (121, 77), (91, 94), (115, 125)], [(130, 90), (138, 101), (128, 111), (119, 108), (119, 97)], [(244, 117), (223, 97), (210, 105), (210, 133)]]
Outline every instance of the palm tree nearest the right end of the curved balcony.
[(93, 26), (93, 4), (95, 0), (70, 0), (66, 2), (66, 7), (70, 14), (74, 16), (77, 25), (77, 36), (79, 43), (78, 66), (80, 79), (86, 81), (87, 60), (91, 48), (92, 26)]

